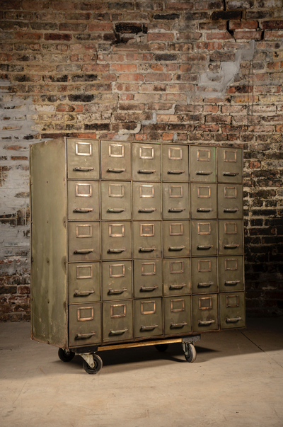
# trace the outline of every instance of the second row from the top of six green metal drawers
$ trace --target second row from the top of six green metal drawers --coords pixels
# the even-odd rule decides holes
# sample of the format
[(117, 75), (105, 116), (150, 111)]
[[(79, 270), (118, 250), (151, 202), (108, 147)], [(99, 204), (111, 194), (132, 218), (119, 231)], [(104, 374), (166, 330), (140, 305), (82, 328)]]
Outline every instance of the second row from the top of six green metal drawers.
[(243, 186), (68, 181), (69, 220), (241, 219)]

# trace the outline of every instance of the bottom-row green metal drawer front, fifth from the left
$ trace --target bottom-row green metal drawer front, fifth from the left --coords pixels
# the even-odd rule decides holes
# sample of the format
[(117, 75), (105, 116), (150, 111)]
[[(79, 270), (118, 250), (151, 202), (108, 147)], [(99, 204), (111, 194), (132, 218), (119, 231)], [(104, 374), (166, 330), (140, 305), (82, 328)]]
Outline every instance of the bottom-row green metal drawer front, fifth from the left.
[(192, 296), (192, 330), (215, 331), (219, 329), (217, 295)]

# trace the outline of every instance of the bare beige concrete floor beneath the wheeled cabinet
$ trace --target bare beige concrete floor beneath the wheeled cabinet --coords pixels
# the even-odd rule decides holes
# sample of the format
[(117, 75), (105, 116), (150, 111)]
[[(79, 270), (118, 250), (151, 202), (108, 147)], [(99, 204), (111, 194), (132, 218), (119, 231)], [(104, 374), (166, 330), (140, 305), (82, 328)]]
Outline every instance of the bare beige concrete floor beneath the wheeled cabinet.
[(283, 426), (282, 318), (202, 334), (195, 363), (180, 344), (103, 351), (97, 375), (29, 335), (0, 324), (1, 427)]

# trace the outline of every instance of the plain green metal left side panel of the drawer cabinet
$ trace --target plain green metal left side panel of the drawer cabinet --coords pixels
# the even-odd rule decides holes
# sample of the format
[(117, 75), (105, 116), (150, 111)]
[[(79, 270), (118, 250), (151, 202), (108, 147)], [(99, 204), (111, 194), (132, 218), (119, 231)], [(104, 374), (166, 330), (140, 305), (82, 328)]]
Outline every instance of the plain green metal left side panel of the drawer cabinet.
[(67, 347), (66, 162), (64, 140), (30, 149), (32, 338)]

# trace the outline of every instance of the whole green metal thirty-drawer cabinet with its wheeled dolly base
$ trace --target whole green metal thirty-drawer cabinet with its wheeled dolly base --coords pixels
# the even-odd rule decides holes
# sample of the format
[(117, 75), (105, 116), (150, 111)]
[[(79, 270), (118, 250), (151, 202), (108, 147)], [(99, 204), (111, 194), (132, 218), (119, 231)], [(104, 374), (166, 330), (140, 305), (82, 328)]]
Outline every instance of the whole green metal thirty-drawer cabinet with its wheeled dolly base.
[(244, 327), (242, 170), (238, 147), (33, 144), (32, 338), (96, 373), (105, 348), (193, 361), (200, 333)]

